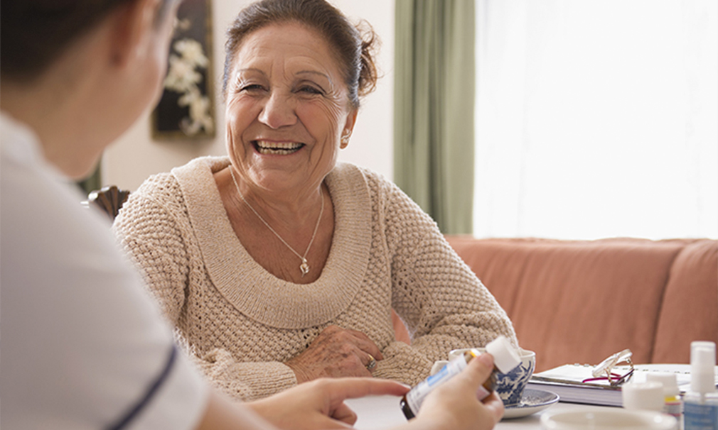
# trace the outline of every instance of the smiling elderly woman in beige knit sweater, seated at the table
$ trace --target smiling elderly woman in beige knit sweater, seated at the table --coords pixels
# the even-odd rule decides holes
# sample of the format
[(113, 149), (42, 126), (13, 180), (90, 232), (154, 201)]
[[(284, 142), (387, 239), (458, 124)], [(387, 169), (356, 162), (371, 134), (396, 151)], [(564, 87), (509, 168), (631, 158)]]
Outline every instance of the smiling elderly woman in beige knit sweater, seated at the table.
[(236, 398), (321, 376), (413, 385), (453, 348), (516, 343), (434, 221), (337, 163), (376, 84), (373, 36), (324, 0), (241, 11), (225, 52), (228, 157), (149, 178), (116, 220), (177, 337)]

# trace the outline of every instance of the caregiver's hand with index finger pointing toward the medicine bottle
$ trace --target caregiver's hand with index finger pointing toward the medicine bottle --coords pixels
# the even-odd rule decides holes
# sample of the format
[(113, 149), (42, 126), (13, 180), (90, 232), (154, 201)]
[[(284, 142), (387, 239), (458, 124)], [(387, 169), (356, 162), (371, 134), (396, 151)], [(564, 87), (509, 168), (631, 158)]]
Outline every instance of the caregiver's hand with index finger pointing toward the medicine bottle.
[(279, 429), (350, 429), (357, 416), (345, 399), (402, 396), (406, 391), (406, 386), (386, 379), (325, 378), (245, 404)]

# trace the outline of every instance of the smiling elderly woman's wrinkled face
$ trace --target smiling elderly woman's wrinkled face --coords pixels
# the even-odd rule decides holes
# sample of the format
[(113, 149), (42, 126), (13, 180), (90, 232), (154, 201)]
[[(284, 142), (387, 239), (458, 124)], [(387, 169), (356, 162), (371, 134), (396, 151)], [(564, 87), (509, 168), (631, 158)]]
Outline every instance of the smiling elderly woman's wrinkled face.
[(319, 187), (356, 118), (330, 45), (301, 24), (273, 24), (245, 37), (230, 73), (227, 145), (242, 178), (297, 195)]

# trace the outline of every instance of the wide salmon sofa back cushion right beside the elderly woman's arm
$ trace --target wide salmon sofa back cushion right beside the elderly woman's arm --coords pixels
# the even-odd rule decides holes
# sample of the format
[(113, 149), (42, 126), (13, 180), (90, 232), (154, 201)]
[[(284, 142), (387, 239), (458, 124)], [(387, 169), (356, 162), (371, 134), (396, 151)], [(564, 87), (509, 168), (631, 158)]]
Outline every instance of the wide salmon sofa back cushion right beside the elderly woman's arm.
[(624, 348), (651, 362), (671, 264), (691, 241), (447, 237), (504, 307), (536, 371)]

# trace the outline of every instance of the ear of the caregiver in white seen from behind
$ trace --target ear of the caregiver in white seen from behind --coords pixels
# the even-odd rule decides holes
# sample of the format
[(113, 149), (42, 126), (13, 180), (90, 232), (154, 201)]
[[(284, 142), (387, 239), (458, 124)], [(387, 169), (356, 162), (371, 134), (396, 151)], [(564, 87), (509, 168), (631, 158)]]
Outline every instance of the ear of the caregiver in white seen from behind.
[(114, 20), (112, 61), (125, 68), (147, 54), (154, 35), (155, 15), (161, 0), (131, 0), (119, 6)]

